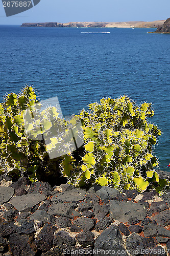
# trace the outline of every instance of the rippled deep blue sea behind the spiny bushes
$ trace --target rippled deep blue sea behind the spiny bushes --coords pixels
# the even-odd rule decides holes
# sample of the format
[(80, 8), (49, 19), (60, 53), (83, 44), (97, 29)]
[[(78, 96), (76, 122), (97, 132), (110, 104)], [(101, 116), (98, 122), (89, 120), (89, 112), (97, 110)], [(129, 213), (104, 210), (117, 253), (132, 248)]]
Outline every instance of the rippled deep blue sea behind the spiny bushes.
[(162, 130), (155, 155), (169, 171), (170, 35), (154, 30), (0, 26), (0, 101), (28, 83), (41, 100), (58, 96), (64, 115), (104, 96), (152, 102)]

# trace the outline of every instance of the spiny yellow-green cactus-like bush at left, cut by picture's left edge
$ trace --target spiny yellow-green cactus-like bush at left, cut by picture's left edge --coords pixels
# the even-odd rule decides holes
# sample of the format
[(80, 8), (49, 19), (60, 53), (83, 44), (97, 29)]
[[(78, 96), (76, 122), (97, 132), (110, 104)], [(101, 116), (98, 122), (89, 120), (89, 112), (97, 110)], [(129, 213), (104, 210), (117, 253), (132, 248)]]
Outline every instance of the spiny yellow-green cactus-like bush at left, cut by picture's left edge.
[[(45, 110), (46, 114), (42, 113), (35, 122), (31, 116), (33, 121), (26, 131), (27, 110), (33, 110), (38, 102), (33, 88), (27, 86), (18, 95), (8, 94), (0, 104), (0, 174), (14, 179), (27, 176), (32, 182), (50, 181), (48, 177), (52, 177), (55, 182), (61, 176), (61, 160), (50, 160), (43, 138), (39, 140), (36, 136), (42, 134), (39, 127), (46, 133), (51, 129), (52, 123), (48, 120), (49, 116), (54, 119), (58, 116), (56, 108)], [(31, 130), (34, 139), (29, 139), (27, 134)]]

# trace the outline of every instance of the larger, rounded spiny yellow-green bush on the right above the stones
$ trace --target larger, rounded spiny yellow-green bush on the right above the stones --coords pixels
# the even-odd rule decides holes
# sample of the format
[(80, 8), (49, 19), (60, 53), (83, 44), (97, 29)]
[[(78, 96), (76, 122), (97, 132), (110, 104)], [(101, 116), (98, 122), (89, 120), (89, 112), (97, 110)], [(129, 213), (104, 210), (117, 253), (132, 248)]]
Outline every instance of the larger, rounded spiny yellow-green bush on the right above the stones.
[(63, 176), (76, 186), (155, 188), (162, 193), (169, 183), (154, 169), (158, 160), (152, 152), (161, 131), (148, 121), (153, 115), (151, 104), (137, 106), (127, 96), (89, 104), (89, 111), (80, 112), (84, 146), (64, 158)]

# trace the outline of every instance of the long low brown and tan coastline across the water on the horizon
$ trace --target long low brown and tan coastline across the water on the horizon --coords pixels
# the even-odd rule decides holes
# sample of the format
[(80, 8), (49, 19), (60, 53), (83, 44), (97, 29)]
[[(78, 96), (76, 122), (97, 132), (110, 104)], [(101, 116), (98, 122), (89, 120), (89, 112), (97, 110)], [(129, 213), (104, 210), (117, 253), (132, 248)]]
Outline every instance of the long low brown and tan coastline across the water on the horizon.
[(56, 27), (56, 28), (158, 28), (165, 20), (154, 22), (69, 22), (69, 23), (22, 23), (21, 27)]

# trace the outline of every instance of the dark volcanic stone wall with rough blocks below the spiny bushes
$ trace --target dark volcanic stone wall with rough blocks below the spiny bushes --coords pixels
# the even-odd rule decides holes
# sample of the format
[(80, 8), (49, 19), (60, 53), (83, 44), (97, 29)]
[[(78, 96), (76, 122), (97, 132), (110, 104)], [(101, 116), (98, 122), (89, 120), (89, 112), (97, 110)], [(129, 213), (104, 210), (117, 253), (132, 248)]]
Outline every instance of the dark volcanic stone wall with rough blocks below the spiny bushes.
[[(161, 178), (170, 174), (159, 171)], [(0, 256), (170, 252), (170, 195), (0, 177)], [(104, 254), (105, 253), (105, 254)]]

